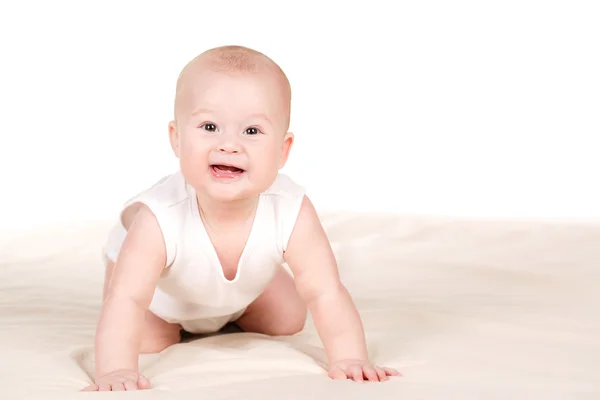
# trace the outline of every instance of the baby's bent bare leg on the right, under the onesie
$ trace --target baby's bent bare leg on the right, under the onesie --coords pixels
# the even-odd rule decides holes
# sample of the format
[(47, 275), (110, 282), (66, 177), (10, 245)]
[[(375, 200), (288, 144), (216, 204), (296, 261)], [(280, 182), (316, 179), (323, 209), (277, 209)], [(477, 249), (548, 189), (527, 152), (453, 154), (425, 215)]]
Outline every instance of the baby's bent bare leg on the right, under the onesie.
[(236, 324), (246, 332), (293, 335), (304, 328), (306, 315), (307, 308), (296, 291), (294, 279), (282, 267)]

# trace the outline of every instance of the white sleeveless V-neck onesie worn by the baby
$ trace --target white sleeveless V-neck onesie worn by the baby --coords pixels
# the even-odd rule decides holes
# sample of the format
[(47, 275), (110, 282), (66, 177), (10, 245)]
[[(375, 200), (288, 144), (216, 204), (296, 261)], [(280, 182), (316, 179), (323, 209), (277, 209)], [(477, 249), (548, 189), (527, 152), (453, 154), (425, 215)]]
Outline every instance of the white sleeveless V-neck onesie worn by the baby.
[[(252, 230), (231, 281), (223, 275), (200, 219), (196, 192), (181, 171), (128, 200), (123, 210), (135, 203), (152, 210), (166, 244), (167, 263), (150, 311), (191, 333), (215, 332), (239, 318), (284, 263), (283, 252), (304, 193), (301, 186), (279, 174), (260, 194)], [(125, 235), (119, 220), (104, 246), (107, 259), (116, 261)]]

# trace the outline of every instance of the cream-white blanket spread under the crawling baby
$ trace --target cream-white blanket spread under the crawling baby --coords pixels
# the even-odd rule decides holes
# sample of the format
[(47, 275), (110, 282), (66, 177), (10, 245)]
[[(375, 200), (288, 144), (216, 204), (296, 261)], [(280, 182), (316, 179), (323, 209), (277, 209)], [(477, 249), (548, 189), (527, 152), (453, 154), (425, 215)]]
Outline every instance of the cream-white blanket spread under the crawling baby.
[(600, 226), (323, 222), (372, 361), (404, 377), (330, 380), (309, 316), (293, 337), (221, 334), (142, 356), (150, 391), (78, 392), (93, 374), (106, 221), (2, 238), (0, 399), (600, 399)]

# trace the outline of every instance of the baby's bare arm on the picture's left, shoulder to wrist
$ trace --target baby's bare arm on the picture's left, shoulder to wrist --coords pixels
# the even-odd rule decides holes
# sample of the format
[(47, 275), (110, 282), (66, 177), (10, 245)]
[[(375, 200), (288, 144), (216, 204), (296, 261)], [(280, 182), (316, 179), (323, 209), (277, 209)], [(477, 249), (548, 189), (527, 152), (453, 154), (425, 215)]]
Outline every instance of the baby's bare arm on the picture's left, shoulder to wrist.
[(102, 306), (96, 332), (97, 381), (115, 371), (138, 371), (141, 328), (165, 262), (158, 222), (141, 207), (128, 227)]

